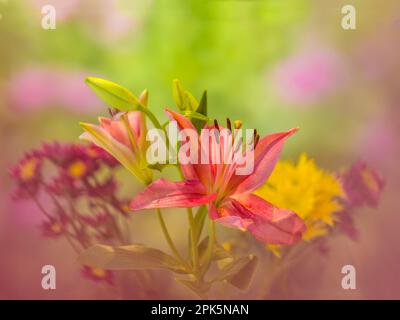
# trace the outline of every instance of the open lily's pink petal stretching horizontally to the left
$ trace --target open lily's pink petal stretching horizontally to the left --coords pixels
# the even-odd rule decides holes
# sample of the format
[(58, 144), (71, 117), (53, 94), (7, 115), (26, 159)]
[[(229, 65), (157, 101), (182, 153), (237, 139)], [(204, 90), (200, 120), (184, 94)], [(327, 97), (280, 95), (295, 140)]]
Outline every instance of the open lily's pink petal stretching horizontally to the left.
[(214, 201), (216, 196), (206, 194), (204, 186), (196, 180), (171, 182), (159, 179), (133, 198), (130, 209), (196, 207)]

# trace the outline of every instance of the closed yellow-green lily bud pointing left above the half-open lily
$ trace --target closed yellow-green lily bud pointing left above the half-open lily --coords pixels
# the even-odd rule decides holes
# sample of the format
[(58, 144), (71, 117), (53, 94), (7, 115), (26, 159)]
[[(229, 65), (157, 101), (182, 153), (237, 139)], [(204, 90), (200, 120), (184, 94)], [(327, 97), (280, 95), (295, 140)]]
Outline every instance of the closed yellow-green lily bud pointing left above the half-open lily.
[(136, 110), (140, 101), (125, 87), (114, 82), (88, 77), (86, 84), (110, 107), (121, 111)]

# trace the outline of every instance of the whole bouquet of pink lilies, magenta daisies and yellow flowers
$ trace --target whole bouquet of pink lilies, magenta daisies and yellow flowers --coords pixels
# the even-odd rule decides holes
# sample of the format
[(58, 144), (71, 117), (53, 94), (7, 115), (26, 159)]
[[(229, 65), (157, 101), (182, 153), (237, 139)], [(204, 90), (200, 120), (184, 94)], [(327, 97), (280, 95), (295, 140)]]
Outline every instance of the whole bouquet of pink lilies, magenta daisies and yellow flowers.
[[(162, 281), (154, 270), (164, 269), (208, 298), (219, 282), (246, 290), (262, 259), (259, 292), (269, 297), (305, 252), (326, 253), (327, 239), (340, 233), (357, 238), (356, 207), (378, 205), (384, 181), (362, 161), (332, 173), (305, 153), (295, 162), (279, 160), (298, 128), (261, 136), (240, 120), (221, 125), (208, 117), (207, 92), (197, 100), (177, 80), (176, 108), (166, 108), (164, 120), (148, 106), (147, 90), (136, 97), (103, 79), (86, 83), (110, 117), (80, 124), (86, 143), (44, 144), (10, 171), (15, 198), (35, 202), (43, 235), (66, 239), (89, 279), (122, 286), (118, 273), (129, 270), (134, 285), (148, 292), (143, 297), (151, 297)], [(154, 178), (166, 168), (180, 180)], [(138, 194), (121, 196), (120, 170), (143, 185)], [(186, 209), (186, 254), (169, 232), (165, 208)], [(139, 212), (157, 215), (168, 252), (133, 239), (131, 217)], [(237, 232), (221, 241), (216, 225)]]

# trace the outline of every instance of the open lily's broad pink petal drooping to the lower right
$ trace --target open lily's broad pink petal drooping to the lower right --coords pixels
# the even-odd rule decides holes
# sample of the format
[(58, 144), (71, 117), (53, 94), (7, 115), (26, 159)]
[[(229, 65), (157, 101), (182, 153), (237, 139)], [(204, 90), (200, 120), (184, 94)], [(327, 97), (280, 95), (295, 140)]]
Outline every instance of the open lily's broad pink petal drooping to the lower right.
[(291, 245), (306, 230), (304, 222), (293, 211), (274, 207), (256, 195), (242, 194), (230, 200), (236, 215), (253, 221), (247, 229), (262, 242)]

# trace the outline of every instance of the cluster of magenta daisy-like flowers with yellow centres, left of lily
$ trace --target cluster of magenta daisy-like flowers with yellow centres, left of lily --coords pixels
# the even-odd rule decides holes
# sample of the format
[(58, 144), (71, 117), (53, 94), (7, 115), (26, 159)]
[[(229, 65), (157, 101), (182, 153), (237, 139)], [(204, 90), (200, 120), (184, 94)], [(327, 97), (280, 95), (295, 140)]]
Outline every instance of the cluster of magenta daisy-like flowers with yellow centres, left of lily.
[[(85, 248), (91, 240), (108, 243), (120, 237), (110, 220), (125, 215), (121, 208), (127, 203), (118, 196), (118, 165), (97, 146), (55, 142), (30, 151), (10, 173), (18, 184), (16, 198), (35, 201), (46, 217), (42, 234), (68, 235)], [(45, 203), (39, 194), (46, 196)]]

